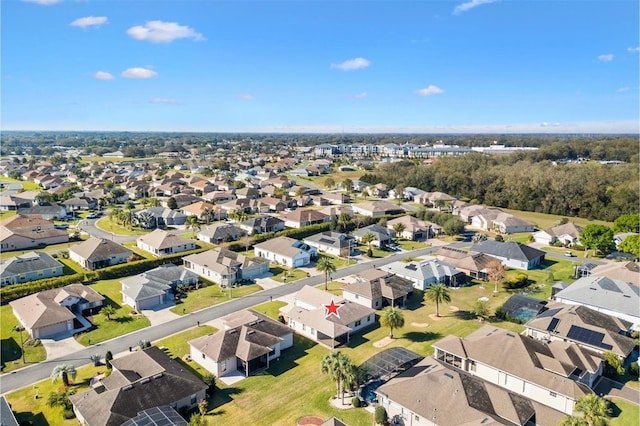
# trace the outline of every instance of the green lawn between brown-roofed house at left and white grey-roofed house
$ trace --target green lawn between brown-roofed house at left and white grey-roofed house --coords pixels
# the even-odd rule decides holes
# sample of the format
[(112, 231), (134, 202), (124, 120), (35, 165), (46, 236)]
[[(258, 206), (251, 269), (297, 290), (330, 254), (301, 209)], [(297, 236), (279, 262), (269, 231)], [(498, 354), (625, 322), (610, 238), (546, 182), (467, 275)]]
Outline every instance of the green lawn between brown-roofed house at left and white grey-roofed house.
[(120, 280), (102, 280), (90, 285), (92, 289), (105, 297), (103, 302), (105, 305), (110, 304), (116, 308), (116, 313), (111, 316), (110, 320), (107, 320), (102, 313), (89, 317), (88, 319), (96, 328), (76, 337), (76, 340), (81, 344), (93, 345), (151, 325), (147, 317), (140, 313), (134, 314), (131, 307), (122, 304)]

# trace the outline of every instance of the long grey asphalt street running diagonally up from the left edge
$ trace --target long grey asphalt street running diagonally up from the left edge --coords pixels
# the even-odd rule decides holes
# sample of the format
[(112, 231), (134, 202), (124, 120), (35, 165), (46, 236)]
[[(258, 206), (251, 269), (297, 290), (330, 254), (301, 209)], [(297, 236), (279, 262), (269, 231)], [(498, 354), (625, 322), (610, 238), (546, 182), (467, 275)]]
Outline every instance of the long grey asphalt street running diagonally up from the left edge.
[[(411, 252), (399, 252), (387, 256), (383, 259), (375, 259), (372, 261), (361, 262), (353, 266), (338, 269), (332, 274), (332, 278), (338, 279), (348, 275), (356, 274), (367, 269), (373, 268), (373, 265), (381, 266), (405, 257), (423, 256), (437, 250), (439, 247), (427, 247)], [(128, 351), (129, 347), (136, 347), (141, 340), (156, 341), (175, 333), (192, 328), (200, 323), (205, 323), (216, 318), (223, 317), (233, 312), (247, 309), (261, 303), (268, 302), (270, 297), (274, 299), (282, 297), (300, 290), (304, 285), (318, 285), (324, 282), (323, 275), (316, 275), (309, 278), (303, 278), (293, 283), (283, 284), (269, 290), (263, 290), (258, 293), (251, 294), (238, 299), (232, 299), (228, 302), (221, 303), (210, 308), (194, 312), (180, 318), (176, 318), (164, 324), (147, 327), (133, 333), (116, 337), (109, 341), (92, 345), (78, 352), (63, 357), (55, 358), (39, 362), (20, 370), (3, 374), (0, 380), (0, 394), (10, 392), (31, 385), (48, 378), (51, 371), (56, 365), (68, 364), (74, 367), (80, 367), (90, 363), (89, 356), (94, 354), (104, 355), (107, 351), (118, 354)]]

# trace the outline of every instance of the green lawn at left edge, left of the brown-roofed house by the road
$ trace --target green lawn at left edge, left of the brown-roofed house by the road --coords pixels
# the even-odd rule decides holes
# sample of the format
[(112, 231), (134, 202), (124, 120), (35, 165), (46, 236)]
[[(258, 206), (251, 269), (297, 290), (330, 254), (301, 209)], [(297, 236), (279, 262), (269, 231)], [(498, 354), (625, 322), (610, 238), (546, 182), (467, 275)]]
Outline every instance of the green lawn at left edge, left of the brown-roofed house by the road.
[[(13, 315), (11, 306), (0, 306), (0, 360), (4, 364), (3, 373), (24, 367), (22, 362), (22, 349), (20, 348), (20, 333), (14, 331), (18, 325), (17, 318)], [(26, 331), (22, 332), (22, 338), (25, 342), (29, 339)], [(26, 365), (44, 361), (47, 358), (47, 351), (42, 345), (34, 345), (34, 341), (30, 341), (24, 346), (24, 355)]]

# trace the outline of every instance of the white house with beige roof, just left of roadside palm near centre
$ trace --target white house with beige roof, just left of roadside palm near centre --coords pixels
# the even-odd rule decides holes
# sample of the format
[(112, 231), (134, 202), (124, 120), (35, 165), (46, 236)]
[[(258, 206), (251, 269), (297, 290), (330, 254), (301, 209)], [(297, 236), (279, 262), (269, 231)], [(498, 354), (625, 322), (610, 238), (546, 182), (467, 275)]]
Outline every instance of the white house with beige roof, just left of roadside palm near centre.
[(278, 265), (299, 268), (318, 256), (316, 247), (289, 237), (276, 237), (253, 246), (256, 256)]

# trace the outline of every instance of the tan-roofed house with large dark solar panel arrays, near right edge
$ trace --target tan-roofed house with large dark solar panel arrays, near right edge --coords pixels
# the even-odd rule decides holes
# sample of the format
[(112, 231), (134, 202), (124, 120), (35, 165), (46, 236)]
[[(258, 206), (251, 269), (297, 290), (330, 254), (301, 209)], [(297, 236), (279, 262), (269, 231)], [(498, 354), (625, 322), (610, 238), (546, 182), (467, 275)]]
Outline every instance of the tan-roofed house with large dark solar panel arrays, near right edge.
[(526, 324), (527, 336), (542, 341), (574, 343), (601, 355), (613, 352), (625, 360), (636, 346), (632, 323), (581, 305), (551, 302)]

